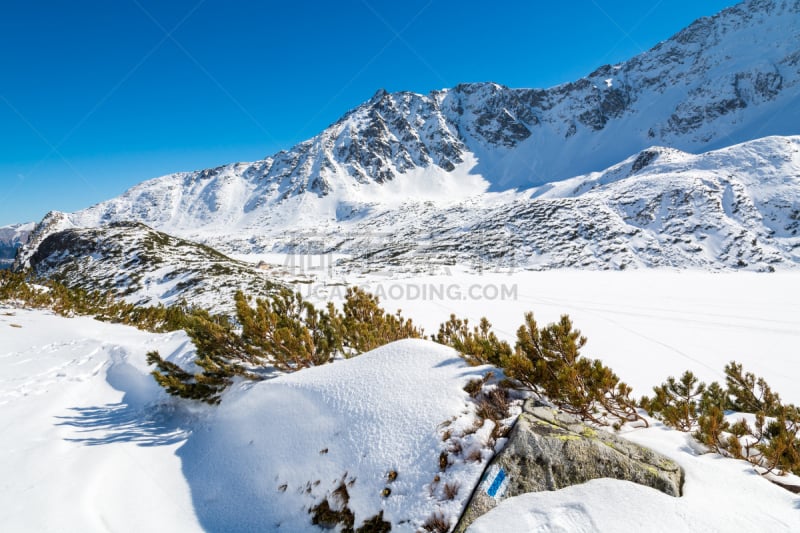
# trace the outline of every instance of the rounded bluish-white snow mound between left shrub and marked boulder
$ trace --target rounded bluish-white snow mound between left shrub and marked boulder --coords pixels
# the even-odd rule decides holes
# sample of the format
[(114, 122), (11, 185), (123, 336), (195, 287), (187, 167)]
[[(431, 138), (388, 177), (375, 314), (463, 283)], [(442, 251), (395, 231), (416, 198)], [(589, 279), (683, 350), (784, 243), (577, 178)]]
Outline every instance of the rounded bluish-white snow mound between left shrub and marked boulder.
[[(436, 511), (454, 523), (485, 458), (441, 469), (443, 427), (458, 418), (457, 433), (475, 423), (463, 387), (488, 370), (450, 348), (405, 340), (229, 394), (211, 431), (197, 432), (179, 454), (199, 465), (236, 450), (234, 460), (187, 470), (198, 496), (224, 495), (199, 510), (201, 523), (209, 531), (315, 531), (309, 510), (323, 500), (349, 508), (356, 528), (381, 516), (391, 531), (418, 531)], [(468, 442), (486, 446), (493, 427), (487, 421), (466, 437), (463, 455)], [(445, 484), (461, 488), (448, 498)]]

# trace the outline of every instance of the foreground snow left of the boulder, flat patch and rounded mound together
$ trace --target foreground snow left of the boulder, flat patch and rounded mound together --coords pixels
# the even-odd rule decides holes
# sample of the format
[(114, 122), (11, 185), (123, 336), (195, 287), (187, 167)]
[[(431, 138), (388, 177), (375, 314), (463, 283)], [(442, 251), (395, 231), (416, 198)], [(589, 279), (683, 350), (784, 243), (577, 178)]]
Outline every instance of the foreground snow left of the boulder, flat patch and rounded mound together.
[(182, 333), (0, 310), (0, 335), (4, 530), (313, 530), (307, 509), (342, 480), (356, 526), (382, 510), (414, 530), (434, 509), (457, 514), (483, 469), (441, 474), (464, 487), (456, 500), (439, 503), (441, 486), (429, 486), (440, 424), (471, 425), (462, 389), (486, 369), (428, 341), (244, 385), (189, 411), (144, 365), (153, 349), (183, 359)]

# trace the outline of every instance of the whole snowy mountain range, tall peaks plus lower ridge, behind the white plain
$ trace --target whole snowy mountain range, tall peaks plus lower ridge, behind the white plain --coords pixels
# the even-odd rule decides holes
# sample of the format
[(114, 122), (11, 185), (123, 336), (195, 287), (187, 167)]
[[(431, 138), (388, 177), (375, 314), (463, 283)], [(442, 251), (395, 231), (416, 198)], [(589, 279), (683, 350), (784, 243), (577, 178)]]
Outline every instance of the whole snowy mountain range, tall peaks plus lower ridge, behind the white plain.
[(800, 2), (747, 0), (550, 89), (378, 91), (288, 151), (48, 224), (135, 220), (226, 253), (311, 244), (353, 269), (769, 270), (798, 261), (798, 124)]

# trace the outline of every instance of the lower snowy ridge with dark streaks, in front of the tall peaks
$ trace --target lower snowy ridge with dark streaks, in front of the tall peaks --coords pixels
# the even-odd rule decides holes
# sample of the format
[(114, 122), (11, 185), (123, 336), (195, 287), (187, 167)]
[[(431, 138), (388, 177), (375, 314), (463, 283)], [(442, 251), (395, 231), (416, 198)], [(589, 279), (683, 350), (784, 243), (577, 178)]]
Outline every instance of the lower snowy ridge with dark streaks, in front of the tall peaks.
[[(307, 210), (296, 214), (308, 220), (325, 203), (286, 200)], [(288, 212), (286, 204), (273, 214)], [(18, 260), (70, 219), (50, 214)], [(475, 270), (790, 268), (800, 263), (800, 136), (700, 155), (653, 147), (602, 172), (524, 193), (483, 193), (445, 205), (374, 204), (347, 220), (190, 235), (231, 254), (335, 253), (344, 256), (337, 264), (343, 272), (432, 272), (455, 264)]]

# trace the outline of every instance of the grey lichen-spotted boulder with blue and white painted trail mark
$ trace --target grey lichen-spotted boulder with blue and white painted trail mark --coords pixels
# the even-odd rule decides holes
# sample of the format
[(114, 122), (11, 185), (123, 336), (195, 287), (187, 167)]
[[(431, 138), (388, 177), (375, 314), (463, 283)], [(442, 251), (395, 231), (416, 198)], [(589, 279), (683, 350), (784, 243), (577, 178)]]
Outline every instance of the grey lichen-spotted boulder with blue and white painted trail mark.
[(508, 445), (489, 464), (455, 531), (465, 531), (505, 498), (604, 477), (677, 497), (684, 474), (661, 454), (528, 400)]

